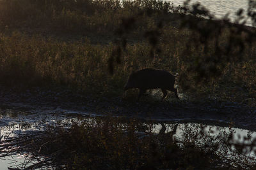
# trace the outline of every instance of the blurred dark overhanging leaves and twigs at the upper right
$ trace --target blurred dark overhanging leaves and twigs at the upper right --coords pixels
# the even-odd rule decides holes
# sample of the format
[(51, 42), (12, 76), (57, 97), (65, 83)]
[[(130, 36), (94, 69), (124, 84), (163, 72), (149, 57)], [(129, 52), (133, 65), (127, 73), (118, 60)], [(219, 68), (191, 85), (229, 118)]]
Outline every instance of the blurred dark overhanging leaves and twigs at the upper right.
[[(166, 5), (168, 6), (170, 4)], [(255, 12), (253, 12), (255, 3), (250, 1), (249, 6), (248, 18), (255, 20)], [(212, 76), (220, 76), (228, 62), (243, 60), (245, 48), (252, 48), (252, 43), (256, 37), (255, 29), (244, 26), (245, 22), (240, 22), (243, 17), (236, 21), (239, 24), (232, 24), (227, 17), (217, 20), (200, 3), (193, 4), (189, 7), (189, 0), (185, 1), (184, 6), (180, 9), (182, 9), (182, 13), (179, 15), (182, 21), (180, 28), (189, 29), (193, 32), (187, 41), (186, 46), (188, 48), (184, 49), (183, 55), (189, 53), (191, 46), (195, 46), (196, 50), (201, 51), (196, 56), (195, 64), (189, 68), (190, 71), (197, 73), (197, 81), (202, 81)], [(136, 27), (135, 23), (140, 22), (141, 15), (152, 17), (152, 13), (156, 12), (161, 13), (159, 14), (161, 17), (159, 17), (160, 19), (156, 24), (156, 29), (145, 31), (145, 38), (148, 38), (148, 43), (151, 45), (150, 56), (148, 57), (154, 57), (156, 53), (160, 53), (161, 48), (157, 48), (157, 44), (159, 43), (159, 39), (161, 39), (161, 28), (163, 28), (163, 25), (168, 25), (171, 22), (171, 20), (166, 20), (164, 16), (170, 15), (173, 11), (158, 11), (155, 6), (148, 7), (133, 17), (123, 19), (117, 31), (118, 36), (122, 39), (122, 41), (116, 41), (117, 46), (119, 46), (118, 49), (125, 49), (126, 44), (122, 44), (122, 42), (127, 41), (124, 34), (129, 34), (130, 29)], [(237, 16), (241, 16), (243, 9), (238, 10), (236, 14)], [(221, 43), (223, 32), (229, 32), (225, 44)], [(170, 39), (170, 41), (173, 40)], [(203, 48), (203, 50), (200, 50), (200, 48)], [(121, 52), (116, 53), (116, 59), (118, 61), (121, 57)], [(114, 70), (114, 63), (114, 60), (109, 62), (109, 71), (111, 73)], [(118, 62), (116, 63), (118, 64)]]

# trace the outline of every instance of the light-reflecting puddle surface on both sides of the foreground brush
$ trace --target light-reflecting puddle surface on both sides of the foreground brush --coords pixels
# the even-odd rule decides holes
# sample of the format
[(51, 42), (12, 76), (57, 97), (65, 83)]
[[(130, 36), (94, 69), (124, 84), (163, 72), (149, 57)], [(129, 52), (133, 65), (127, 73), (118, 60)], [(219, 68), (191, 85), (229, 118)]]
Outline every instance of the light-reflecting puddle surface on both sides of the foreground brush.
[[(28, 119), (26, 119), (28, 118)], [(12, 119), (12, 118), (10, 118)], [(15, 119), (15, 118), (13, 118)], [(12, 122), (10, 125), (3, 125), (0, 129), (2, 141), (3, 139), (8, 139), (11, 136), (24, 134), (28, 132), (33, 131), (44, 131), (47, 125), (64, 125), (65, 127), (68, 127), (72, 122), (79, 122), (80, 120), (86, 119), (88, 122), (93, 124), (95, 122), (94, 118), (90, 117), (80, 117), (77, 115), (75, 116), (67, 116), (67, 115), (44, 115), (44, 117), (41, 115), (41, 117), (31, 118), (31, 115), (26, 115), (22, 119), (20, 119), (18, 122), (15, 122), (15, 120), (10, 121)], [(10, 123), (9, 122), (9, 123)], [(125, 127), (125, 122), (122, 122), (122, 124)], [(151, 133), (159, 134), (163, 133), (168, 134), (170, 132), (174, 132), (173, 139), (177, 141), (184, 141), (189, 140), (192, 138), (198, 138), (198, 136), (195, 136), (195, 134), (200, 134), (199, 132), (204, 133), (204, 136), (208, 136), (209, 142), (212, 139), (219, 139), (218, 136), (229, 136), (230, 134), (233, 134), (234, 136), (234, 142), (236, 143), (243, 143), (244, 139), (247, 137), (256, 138), (256, 132), (251, 132), (244, 129), (234, 128), (234, 127), (220, 127), (216, 125), (204, 125), (204, 124), (196, 124), (196, 123), (180, 123), (180, 122), (142, 122), (145, 126), (151, 126), (152, 131)], [(173, 131), (175, 129), (175, 131)], [(203, 131), (202, 131), (203, 129)], [(141, 138), (144, 138), (147, 136), (143, 130), (138, 130), (138, 134), (140, 134)], [(203, 138), (204, 140), (207, 138)], [(220, 138), (221, 139), (221, 138)], [(200, 138), (198, 138), (198, 145), (200, 145)], [(205, 141), (204, 141), (205, 142)], [(217, 141), (218, 142), (218, 141)], [(250, 144), (250, 140), (246, 141), (247, 144)], [(234, 149), (234, 147), (232, 148)], [(250, 148), (248, 148), (249, 150)], [(221, 148), (221, 152), (225, 151), (225, 148)], [(230, 153), (230, 152), (229, 152)], [(228, 155), (231, 155), (229, 154)], [(245, 152), (246, 157), (253, 157), (255, 155), (254, 152)], [(5, 157), (5, 160), (0, 161), (0, 167), (1, 169), (7, 169), (7, 167), (17, 167), (19, 164), (24, 165), (24, 162), (26, 160), (24, 159), (24, 155), (14, 155), (13, 157)]]

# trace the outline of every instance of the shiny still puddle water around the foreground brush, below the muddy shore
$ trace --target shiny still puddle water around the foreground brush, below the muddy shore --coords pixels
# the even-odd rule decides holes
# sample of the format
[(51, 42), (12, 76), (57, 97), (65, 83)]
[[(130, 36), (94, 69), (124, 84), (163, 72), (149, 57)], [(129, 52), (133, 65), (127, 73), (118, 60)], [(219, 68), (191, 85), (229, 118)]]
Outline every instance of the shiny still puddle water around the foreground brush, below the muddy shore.
[[(94, 115), (84, 117), (86, 121), (93, 123), (95, 122)], [(5, 124), (0, 124), (0, 134), (1, 140), (4, 140), (6, 136), (15, 136), (19, 134), (29, 133), (33, 131), (44, 131), (46, 125), (58, 125), (63, 124), (68, 127), (72, 122), (79, 122), (79, 115), (74, 115), (71, 117), (70, 115), (65, 114), (31, 114), (31, 115), (17, 115), (17, 117), (2, 117), (3, 122)], [(4, 121), (6, 120), (6, 121)], [(189, 132), (199, 132), (202, 127), (204, 127), (204, 131), (209, 136), (227, 136), (227, 134), (234, 134), (233, 139), (235, 143), (243, 143), (243, 139), (250, 136), (251, 139), (256, 138), (256, 132), (248, 131), (245, 129), (239, 128), (231, 128), (231, 127), (220, 127), (216, 125), (203, 125), (197, 123), (182, 123), (179, 121), (172, 122), (145, 122), (144, 125), (152, 125), (152, 130), (154, 134), (159, 134), (162, 131), (163, 126), (166, 127), (164, 133), (172, 132), (174, 127), (176, 126), (176, 130), (173, 133), (173, 138), (177, 141), (183, 141), (185, 139), (184, 134), (188, 134)], [(125, 124), (124, 124), (125, 126)], [(138, 131), (138, 135), (140, 138), (147, 136), (148, 134), (143, 131)], [(7, 138), (6, 138), (7, 139)], [(201, 142), (201, 139), (198, 139), (198, 143)], [(249, 143), (250, 144), (250, 143)], [(250, 150), (250, 148), (248, 148)], [(27, 167), (29, 165), (35, 164), (36, 160), (29, 160), (28, 153), (20, 154), (20, 155), (12, 155), (8, 157), (0, 158), (0, 169), (8, 169), (11, 168), (21, 168)], [(227, 153), (231, 155), (231, 152)], [(227, 156), (228, 156), (227, 155)], [(255, 160), (255, 153), (251, 152), (246, 154), (246, 157), (252, 157)]]

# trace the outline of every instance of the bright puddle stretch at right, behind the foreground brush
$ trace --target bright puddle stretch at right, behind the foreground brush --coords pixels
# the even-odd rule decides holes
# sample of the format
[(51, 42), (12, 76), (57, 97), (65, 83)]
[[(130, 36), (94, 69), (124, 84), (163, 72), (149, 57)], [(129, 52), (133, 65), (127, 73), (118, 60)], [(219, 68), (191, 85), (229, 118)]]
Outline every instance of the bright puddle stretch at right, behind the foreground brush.
[[(253, 143), (253, 140), (256, 139), (256, 132), (234, 127), (220, 127), (216, 125), (204, 125), (196, 123), (156, 124), (154, 125), (154, 132), (159, 133), (163, 126), (164, 129), (166, 128), (165, 133), (172, 132), (173, 126), (175, 125), (177, 125), (177, 129), (175, 129), (173, 138), (175, 138), (177, 141), (191, 139), (189, 142), (193, 142), (198, 140), (197, 142), (199, 145), (200, 143), (205, 143), (205, 139), (209, 140), (209, 143), (229, 142), (228, 144), (230, 144), (231, 148), (220, 148), (220, 152), (226, 152), (227, 155), (233, 155), (232, 152), (236, 152), (235, 145), (246, 145), (246, 147), (243, 148), (244, 157), (255, 158), (256, 156), (256, 146), (255, 143)], [(202, 134), (202, 136), (200, 136), (200, 134)], [(230, 138), (232, 136), (232, 140), (230, 141), (228, 141), (229, 136)], [(227, 141), (223, 141), (225, 139)], [(253, 145), (253, 147), (250, 145)]]

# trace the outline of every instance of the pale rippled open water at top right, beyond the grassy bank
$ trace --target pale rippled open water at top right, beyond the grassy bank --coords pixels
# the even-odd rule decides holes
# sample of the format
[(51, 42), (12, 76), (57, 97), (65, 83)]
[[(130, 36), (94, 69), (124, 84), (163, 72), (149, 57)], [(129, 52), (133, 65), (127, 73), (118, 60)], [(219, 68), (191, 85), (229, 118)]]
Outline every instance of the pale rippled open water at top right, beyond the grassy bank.
[[(182, 6), (184, 0), (171, 0), (174, 6)], [(216, 18), (225, 17), (229, 13), (228, 17), (232, 22), (237, 19), (236, 11), (243, 8), (244, 15), (248, 9), (248, 0), (191, 0), (189, 4), (200, 3), (214, 15)], [(252, 25), (251, 20), (247, 20), (246, 25)]]

